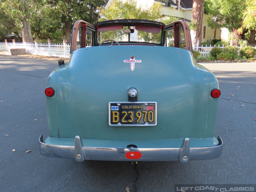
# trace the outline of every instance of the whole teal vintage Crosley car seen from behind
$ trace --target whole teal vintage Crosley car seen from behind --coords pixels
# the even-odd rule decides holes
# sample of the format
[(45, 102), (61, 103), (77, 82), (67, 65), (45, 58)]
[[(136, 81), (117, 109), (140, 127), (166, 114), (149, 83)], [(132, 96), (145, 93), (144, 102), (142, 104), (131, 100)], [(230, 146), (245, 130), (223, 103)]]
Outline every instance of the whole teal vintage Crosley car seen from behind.
[[(118, 39), (118, 30), (126, 39)], [(184, 21), (77, 21), (70, 51), (70, 61), (47, 81), (50, 136), (40, 136), (41, 154), (78, 162), (220, 156), (218, 81), (195, 63)]]

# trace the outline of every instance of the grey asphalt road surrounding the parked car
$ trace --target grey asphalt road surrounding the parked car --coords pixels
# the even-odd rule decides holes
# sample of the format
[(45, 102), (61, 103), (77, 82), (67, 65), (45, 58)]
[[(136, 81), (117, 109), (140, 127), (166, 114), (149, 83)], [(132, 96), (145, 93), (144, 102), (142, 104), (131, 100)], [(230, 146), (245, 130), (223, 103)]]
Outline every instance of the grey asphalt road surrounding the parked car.
[(256, 184), (256, 63), (203, 64), (222, 91), (216, 137), (224, 147), (218, 159), (188, 164), (42, 156), (38, 139), (49, 135), (44, 89), (57, 65), (0, 55), (0, 192), (173, 192), (174, 184)]

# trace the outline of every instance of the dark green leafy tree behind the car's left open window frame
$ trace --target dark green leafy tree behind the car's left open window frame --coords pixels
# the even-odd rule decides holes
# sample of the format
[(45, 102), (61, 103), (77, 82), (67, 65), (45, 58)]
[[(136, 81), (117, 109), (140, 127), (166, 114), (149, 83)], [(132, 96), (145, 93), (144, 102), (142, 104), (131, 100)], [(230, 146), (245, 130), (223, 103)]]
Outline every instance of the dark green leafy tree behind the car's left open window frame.
[[(99, 12), (106, 0), (44, 0), (40, 13), (44, 16), (33, 21), (35, 36), (46, 34), (59, 36), (65, 34), (67, 42), (71, 40), (71, 30), (76, 20), (94, 23), (100, 17)], [(40, 26), (35, 24), (40, 22)], [(43, 33), (40, 33), (41, 30)]]

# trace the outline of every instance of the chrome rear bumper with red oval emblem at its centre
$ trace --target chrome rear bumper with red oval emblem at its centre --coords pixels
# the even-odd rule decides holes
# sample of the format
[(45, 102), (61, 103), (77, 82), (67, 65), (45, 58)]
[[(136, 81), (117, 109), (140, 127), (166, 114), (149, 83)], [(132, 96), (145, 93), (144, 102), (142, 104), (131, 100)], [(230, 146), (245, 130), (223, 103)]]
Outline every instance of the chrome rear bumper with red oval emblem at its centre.
[[(187, 163), (189, 160), (206, 160), (220, 157), (222, 139), (218, 136), (218, 146), (190, 148), (189, 138), (184, 138), (180, 148), (101, 148), (84, 147), (79, 136), (75, 137), (74, 146), (60, 146), (43, 143), (43, 135), (39, 138), (40, 153), (48, 157), (105, 161), (177, 161)], [(128, 154), (126, 154), (129, 152)], [(136, 159), (133, 152), (140, 153)], [(134, 158), (133, 158), (134, 157)]]

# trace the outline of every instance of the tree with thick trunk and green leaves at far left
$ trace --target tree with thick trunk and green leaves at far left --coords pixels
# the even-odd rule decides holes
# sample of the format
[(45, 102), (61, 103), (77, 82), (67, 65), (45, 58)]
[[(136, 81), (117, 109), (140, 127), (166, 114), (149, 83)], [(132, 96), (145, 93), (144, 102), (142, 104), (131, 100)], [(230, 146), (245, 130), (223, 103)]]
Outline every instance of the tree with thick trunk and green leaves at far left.
[(16, 26), (21, 28), (22, 39), (26, 42), (32, 42), (30, 28), (30, 17), (33, 12), (33, 0), (0, 0), (0, 8), (5, 14), (8, 14), (9, 20), (15, 22)]

